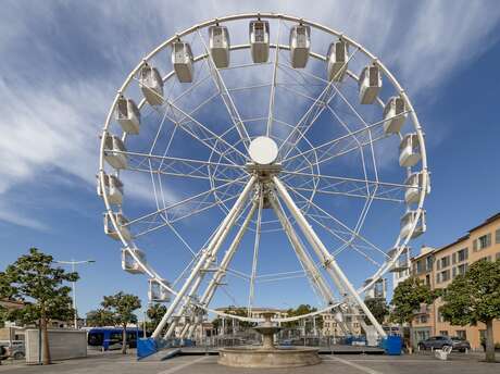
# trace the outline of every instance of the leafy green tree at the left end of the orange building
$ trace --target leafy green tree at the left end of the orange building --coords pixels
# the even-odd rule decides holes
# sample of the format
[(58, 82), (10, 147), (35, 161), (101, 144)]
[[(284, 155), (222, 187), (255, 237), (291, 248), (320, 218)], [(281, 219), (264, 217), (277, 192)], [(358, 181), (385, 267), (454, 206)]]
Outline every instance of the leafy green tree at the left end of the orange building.
[(410, 326), (409, 350), (413, 348), (412, 326), (413, 319), (418, 314), (422, 304), (430, 304), (438, 297), (437, 291), (433, 291), (429, 286), (417, 277), (410, 277), (401, 282), (396, 287), (392, 301), (393, 310), (390, 314), (391, 321)]

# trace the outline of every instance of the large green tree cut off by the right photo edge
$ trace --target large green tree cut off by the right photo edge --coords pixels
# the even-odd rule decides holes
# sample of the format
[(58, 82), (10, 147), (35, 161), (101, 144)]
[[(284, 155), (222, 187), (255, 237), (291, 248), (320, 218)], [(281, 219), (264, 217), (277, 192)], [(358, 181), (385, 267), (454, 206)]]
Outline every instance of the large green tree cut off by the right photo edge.
[(442, 295), (439, 309), (452, 325), (486, 325), (486, 361), (495, 362), (493, 320), (500, 319), (500, 259), (474, 262)]

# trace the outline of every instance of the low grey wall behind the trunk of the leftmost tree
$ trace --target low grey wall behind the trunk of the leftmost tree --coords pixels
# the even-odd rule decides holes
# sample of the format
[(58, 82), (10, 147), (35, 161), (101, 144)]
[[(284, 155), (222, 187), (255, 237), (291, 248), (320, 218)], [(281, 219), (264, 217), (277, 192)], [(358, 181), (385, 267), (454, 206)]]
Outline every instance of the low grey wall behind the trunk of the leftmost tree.
[[(38, 329), (26, 329), (26, 363), (34, 364), (39, 362), (38, 341)], [(52, 360), (87, 357), (87, 332), (77, 329), (49, 329), (49, 349)], [(41, 357), (43, 357), (43, 352)]]

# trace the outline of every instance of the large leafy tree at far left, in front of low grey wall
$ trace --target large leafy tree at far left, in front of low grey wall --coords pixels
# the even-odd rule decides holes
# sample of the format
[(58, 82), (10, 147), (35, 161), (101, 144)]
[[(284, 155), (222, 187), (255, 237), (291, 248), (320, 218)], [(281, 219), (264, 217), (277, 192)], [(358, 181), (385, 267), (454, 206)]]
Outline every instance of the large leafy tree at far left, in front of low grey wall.
[(70, 321), (75, 314), (71, 287), (63, 286), (63, 283), (78, 279), (77, 273), (66, 273), (52, 265), (52, 255), (32, 248), (28, 254), (20, 257), (0, 273), (0, 298), (25, 303), (21, 309), (4, 312), (4, 316), (25, 324), (38, 323), (42, 332), (43, 364), (51, 362), (48, 322)]

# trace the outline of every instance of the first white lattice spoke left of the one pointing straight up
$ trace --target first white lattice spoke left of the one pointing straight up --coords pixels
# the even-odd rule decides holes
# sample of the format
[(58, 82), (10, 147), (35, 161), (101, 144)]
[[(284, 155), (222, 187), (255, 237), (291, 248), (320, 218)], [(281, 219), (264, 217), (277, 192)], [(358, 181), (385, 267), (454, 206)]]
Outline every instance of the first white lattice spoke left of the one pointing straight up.
[(203, 43), (203, 48), (205, 50), (205, 53), (208, 58), (205, 59), (208, 63), (208, 67), (210, 70), (210, 73), (212, 74), (213, 82), (215, 86), (218, 89), (218, 92), (221, 94), (221, 98), (224, 102), (224, 105), (227, 109), (227, 113), (229, 114), (230, 121), (233, 125), (236, 127), (240, 139), (242, 139), (242, 144), (245, 146), (245, 149), (248, 150), (248, 146), (250, 144), (250, 137), (248, 135), (247, 128), (245, 127), (245, 123), (241, 121), (241, 116), (239, 115), (239, 112), (235, 105), (235, 102), (233, 100), (233, 97), (230, 96), (229, 91), (227, 90), (227, 86), (222, 77), (221, 71), (218, 67), (215, 65), (212, 54), (209, 52), (209, 48), (207, 47), (207, 42), (204, 41), (203, 36), (201, 35), (200, 30), (198, 30), (198, 36)]

